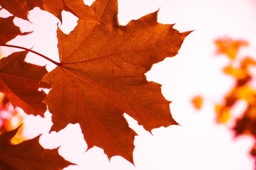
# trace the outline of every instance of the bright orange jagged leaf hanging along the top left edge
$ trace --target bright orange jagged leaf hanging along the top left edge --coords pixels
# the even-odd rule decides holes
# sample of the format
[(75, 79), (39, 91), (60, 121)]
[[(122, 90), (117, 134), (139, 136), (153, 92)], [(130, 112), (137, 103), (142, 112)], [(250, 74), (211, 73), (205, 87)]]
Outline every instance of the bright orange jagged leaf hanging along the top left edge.
[(83, 0), (1, 0), (0, 6), (24, 20), (28, 20), (27, 15), (30, 10), (39, 7), (41, 10), (52, 13), (61, 22), (61, 12), (65, 10), (73, 13), (81, 20), (103, 24), (92, 9), (84, 4)]

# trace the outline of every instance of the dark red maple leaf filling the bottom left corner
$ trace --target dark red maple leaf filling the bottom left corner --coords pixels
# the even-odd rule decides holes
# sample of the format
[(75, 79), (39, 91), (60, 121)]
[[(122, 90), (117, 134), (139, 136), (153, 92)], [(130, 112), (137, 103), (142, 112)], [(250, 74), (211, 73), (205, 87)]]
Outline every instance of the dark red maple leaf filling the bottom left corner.
[(58, 148), (51, 150), (40, 146), (40, 136), (17, 145), (11, 144), (19, 128), (0, 134), (1, 170), (60, 170), (75, 165), (58, 155)]

